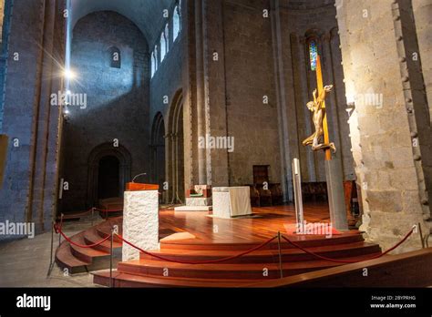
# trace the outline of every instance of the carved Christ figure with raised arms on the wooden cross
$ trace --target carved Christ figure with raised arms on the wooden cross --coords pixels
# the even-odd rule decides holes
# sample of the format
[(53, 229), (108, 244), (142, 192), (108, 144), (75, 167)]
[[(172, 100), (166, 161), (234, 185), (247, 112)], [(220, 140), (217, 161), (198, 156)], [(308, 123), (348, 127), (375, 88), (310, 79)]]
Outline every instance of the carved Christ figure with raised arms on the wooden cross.
[(318, 151), (320, 149), (333, 149), (333, 151), (336, 151), (336, 147), (334, 147), (334, 143), (320, 143), (321, 139), (324, 135), (324, 129), (323, 129), (323, 120), (325, 116), (325, 108), (323, 107), (325, 97), (327, 97), (327, 94), (330, 93), (333, 89), (333, 85), (325, 86), (323, 91), (321, 92), (319, 97), (316, 97), (317, 91), (314, 90), (314, 101), (310, 101), (307, 103), (307, 108), (314, 112), (314, 127), (315, 132), (312, 136), (309, 138), (306, 138), (303, 141), (303, 146), (311, 146), (314, 151)]

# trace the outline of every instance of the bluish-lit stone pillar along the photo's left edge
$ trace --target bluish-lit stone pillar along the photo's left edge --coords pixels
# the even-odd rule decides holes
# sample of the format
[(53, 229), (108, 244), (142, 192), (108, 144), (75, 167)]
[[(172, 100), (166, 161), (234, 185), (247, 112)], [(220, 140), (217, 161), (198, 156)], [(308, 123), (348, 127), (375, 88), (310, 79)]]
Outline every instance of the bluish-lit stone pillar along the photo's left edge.
[[(0, 221), (33, 221), (50, 228), (57, 206), (59, 108), (50, 95), (61, 89), (64, 56), (63, 1), (15, 0), (10, 21), (3, 132), (10, 138)], [(2, 236), (0, 239), (4, 239)], [(7, 238), (7, 237), (6, 237)]]

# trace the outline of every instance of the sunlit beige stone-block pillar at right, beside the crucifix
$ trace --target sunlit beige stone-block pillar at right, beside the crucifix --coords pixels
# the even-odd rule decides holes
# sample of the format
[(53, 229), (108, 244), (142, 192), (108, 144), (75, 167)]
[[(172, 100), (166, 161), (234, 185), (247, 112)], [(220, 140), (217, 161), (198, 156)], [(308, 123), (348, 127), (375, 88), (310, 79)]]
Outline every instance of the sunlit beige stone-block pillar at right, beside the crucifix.
[[(425, 116), (425, 107), (421, 110), (421, 103), (411, 97), (415, 74), (409, 74), (404, 47), (411, 37), (404, 39), (401, 32), (412, 26), (401, 17), (398, 3), (336, 1), (346, 97), (355, 103), (350, 130), (355, 172), (362, 185), (360, 229), (384, 250), (418, 222), (427, 232), (430, 217), (416, 146), (417, 117)], [(414, 235), (396, 252), (420, 247)]]

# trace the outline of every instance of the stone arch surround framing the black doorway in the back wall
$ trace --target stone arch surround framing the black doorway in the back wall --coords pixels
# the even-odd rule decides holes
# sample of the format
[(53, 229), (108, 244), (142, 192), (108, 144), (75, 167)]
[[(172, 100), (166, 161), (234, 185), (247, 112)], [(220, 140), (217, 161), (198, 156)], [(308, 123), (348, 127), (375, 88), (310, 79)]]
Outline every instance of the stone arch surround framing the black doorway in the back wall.
[[(87, 182), (87, 208), (96, 206), (98, 203), (99, 166), (104, 158), (115, 158), (118, 160), (118, 189), (119, 197), (123, 197), (126, 183), (130, 181), (130, 169), (132, 159), (128, 149), (119, 146), (113, 147), (112, 143), (101, 144), (93, 148), (88, 156), (88, 182)], [(117, 187), (117, 186), (116, 186)]]

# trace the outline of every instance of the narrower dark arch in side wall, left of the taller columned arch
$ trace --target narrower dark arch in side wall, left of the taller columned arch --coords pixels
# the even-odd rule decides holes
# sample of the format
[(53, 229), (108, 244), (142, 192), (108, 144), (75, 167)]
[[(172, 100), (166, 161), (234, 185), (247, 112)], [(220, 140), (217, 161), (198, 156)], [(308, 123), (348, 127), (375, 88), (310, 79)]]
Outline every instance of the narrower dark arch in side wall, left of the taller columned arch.
[(151, 181), (154, 184), (159, 184), (159, 189), (162, 192), (160, 198), (163, 202), (167, 202), (168, 196), (164, 189), (164, 183), (167, 181), (165, 174), (165, 122), (162, 114), (159, 112), (153, 120), (151, 129)]

